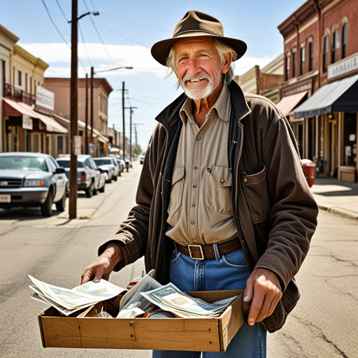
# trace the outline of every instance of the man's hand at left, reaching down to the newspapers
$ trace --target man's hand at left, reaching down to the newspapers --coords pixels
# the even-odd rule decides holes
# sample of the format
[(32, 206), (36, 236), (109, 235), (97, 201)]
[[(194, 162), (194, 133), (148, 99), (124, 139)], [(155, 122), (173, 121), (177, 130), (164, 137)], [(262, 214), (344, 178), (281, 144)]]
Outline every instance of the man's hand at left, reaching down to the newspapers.
[(123, 253), (119, 245), (115, 243), (108, 245), (103, 254), (96, 261), (85, 268), (81, 276), (81, 285), (90, 280), (108, 280), (115, 265), (121, 262)]

